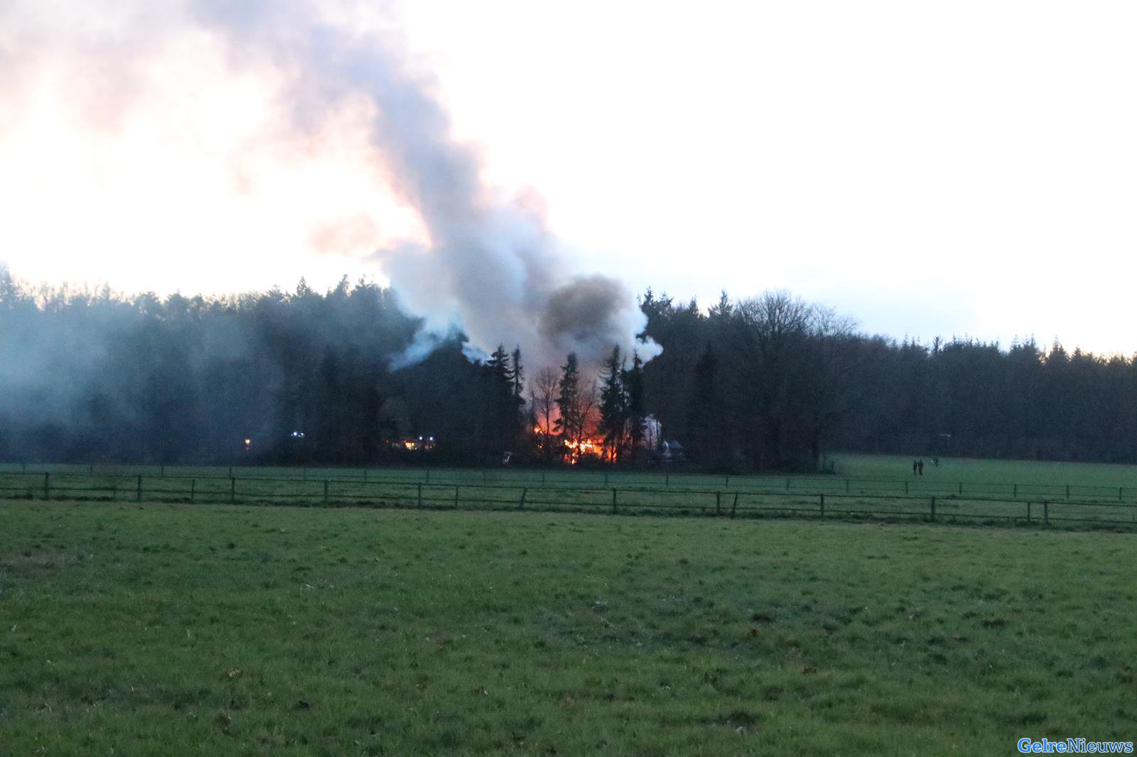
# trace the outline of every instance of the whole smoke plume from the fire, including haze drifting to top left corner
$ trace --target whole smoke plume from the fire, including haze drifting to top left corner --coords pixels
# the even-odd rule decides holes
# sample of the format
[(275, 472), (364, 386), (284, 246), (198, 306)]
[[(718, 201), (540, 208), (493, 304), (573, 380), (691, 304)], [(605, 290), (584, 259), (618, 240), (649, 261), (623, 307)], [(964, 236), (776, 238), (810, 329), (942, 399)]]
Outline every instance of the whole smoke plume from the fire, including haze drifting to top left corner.
[[(193, 49), (222, 56), (234, 76), (271, 72), (284, 122), (273, 130), (287, 134), (267, 138), (299, 145), (326, 140), (342, 114), (363, 114), (372, 153), (359, 159), (374, 165), (376, 180), (414, 209), (423, 231), (422, 239), (384, 244), (370, 258), (405, 307), (424, 318), (415, 346), (398, 361), (421, 358), (454, 328), (468, 336), (471, 356), (499, 343), (509, 350), (520, 346), (533, 367), (563, 361), (570, 351), (598, 365), (614, 346), (625, 353), (637, 349), (645, 359), (658, 353), (657, 344), (637, 338), (645, 317), (625, 284), (574, 271), (539, 203), (482, 181), (476, 151), (451, 135), (435, 82), (416, 67), (397, 31), (374, 23), (374, 16), (362, 22), (365, 5), (185, 0), (164, 5), (160, 13), (147, 3), (91, 6), (84, 11), (89, 17), (101, 20), (102, 8), (111, 19), (114, 33), (106, 39), (94, 25), (93, 32), (51, 42), (52, 31), (36, 17), (39, 26), (25, 24), (34, 33), (0, 33), (0, 60), (20, 59), (23, 47), (51, 44), (91, 58), (100, 85), (116, 91), (114, 117), (100, 115), (103, 128), (127, 118), (132, 97), (149, 97), (136, 83), (138, 72), (177, 39), (200, 38)], [(0, 8), (2, 22), (15, 24), (20, 16), (35, 16), (34, 3)], [(116, 50), (124, 50), (121, 58)], [(373, 234), (356, 219), (350, 228), (321, 226), (309, 243), (316, 251), (339, 250)]]

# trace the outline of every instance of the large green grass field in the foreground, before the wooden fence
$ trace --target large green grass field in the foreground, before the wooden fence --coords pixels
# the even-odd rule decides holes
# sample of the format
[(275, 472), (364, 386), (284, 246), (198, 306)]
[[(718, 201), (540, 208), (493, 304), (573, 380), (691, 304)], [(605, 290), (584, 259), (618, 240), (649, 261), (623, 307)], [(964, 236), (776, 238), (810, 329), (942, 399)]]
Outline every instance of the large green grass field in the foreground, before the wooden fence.
[(0, 502), (0, 754), (1130, 739), (1135, 539)]

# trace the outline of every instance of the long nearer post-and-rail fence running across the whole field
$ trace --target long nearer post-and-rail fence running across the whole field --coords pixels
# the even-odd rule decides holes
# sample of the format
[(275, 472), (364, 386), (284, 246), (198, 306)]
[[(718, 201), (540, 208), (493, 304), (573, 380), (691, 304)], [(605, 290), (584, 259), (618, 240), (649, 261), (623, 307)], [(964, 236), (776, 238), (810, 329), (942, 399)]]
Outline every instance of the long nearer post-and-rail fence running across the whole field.
[[(722, 482), (728, 483), (728, 482)], [(267, 477), (91, 473), (0, 473), (0, 499), (184, 502), (190, 505), (368, 506), (431, 509), (539, 509), (722, 517), (920, 518), (947, 522), (1090, 524), (1137, 527), (1123, 501), (1007, 499), (997, 496), (755, 490), (739, 486), (543, 485), (362, 477)]]

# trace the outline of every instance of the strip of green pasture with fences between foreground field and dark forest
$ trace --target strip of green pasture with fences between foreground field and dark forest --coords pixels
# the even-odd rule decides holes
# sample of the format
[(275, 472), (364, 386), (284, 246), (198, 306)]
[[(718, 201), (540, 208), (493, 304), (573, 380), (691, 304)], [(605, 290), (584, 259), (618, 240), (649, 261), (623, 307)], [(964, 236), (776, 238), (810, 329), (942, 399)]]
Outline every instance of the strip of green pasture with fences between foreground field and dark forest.
[(797, 516), (1137, 527), (1137, 466), (837, 456), (836, 475), (679, 471), (0, 466), (0, 498)]

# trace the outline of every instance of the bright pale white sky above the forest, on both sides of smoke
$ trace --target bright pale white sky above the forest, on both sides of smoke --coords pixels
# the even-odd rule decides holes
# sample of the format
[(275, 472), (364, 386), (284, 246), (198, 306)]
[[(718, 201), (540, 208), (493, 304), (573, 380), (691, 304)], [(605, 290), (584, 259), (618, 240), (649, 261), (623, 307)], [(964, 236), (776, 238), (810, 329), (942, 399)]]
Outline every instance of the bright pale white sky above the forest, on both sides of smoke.
[[(703, 305), (788, 289), (897, 339), (1137, 352), (1131, 2), (296, 5), (398, 39), (572, 273)], [(385, 282), (376, 251), (430, 236), (374, 103), (297, 95), (305, 59), (258, 55), (292, 17), (222, 34), (217, 7), (0, 0), (13, 274), (322, 289)]]

